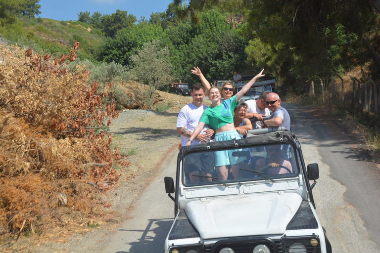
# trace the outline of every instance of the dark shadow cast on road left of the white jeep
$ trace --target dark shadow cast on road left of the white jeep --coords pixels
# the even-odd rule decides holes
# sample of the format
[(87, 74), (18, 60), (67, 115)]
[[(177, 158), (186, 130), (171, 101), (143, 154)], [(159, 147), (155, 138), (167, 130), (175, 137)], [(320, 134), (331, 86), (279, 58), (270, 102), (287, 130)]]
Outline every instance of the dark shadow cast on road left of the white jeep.
[[(131, 246), (128, 253), (164, 252), (165, 238), (173, 224), (173, 218), (149, 219), (144, 230), (120, 229), (120, 231), (141, 232), (138, 242), (127, 243)], [(118, 251), (116, 253), (127, 253)]]

